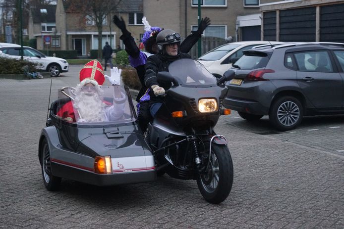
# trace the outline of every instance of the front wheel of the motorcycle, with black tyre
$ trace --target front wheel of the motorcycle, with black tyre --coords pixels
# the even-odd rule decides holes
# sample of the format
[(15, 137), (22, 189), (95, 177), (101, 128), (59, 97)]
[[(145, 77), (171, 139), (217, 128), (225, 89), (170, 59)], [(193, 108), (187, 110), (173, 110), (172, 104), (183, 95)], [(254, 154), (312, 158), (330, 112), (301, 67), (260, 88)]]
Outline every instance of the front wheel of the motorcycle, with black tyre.
[[(204, 165), (207, 166), (209, 158), (210, 142), (205, 142), (202, 154), (207, 158)], [(202, 157), (202, 158), (205, 158)], [(227, 145), (212, 144), (210, 163), (205, 172), (197, 177), (198, 188), (209, 203), (218, 204), (224, 201), (230, 192), (233, 183), (233, 163)]]

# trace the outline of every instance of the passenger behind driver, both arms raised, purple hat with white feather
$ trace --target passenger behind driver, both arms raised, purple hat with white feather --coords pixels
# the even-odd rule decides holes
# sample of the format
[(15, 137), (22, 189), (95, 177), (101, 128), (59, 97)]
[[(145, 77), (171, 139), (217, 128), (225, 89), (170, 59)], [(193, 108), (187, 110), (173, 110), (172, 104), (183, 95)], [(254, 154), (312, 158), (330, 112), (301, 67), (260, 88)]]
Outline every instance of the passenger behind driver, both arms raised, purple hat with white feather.
[[(137, 47), (134, 38), (131, 33), (126, 29), (125, 22), (123, 18), (119, 19), (116, 15), (114, 16), (115, 25), (122, 31), (122, 36), (120, 40), (123, 41), (125, 45), (125, 51), (129, 55), (130, 65), (136, 68), (137, 75), (141, 82), (141, 90), (136, 97), (136, 101), (139, 102), (141, 96), (146, 92), (147, 88), (144, 83), (145, 76), (145, 64), (147, 57), (158, 53), (158, 48), (156, 46), (156, 37), (158, 33), (162, 30), (160, 27), (151, 27), (146, 20), (146, 17), (142, 18), (142, 23), (144, 24), (145, 33), (143, 34), (142, 42), (145, 46), (147, 52), (140, 51)], [(202, 18), (198, 25), (197, 31), (191, 31), (191, 34), (185, 38), (185, 40), (180, 44), (179, 50), (181, 52), (189, 52), (191, 47), (194, 46), (198, 39), (202, 36), (203, 31), (210, 25), (210, 19), (208, 17)]]

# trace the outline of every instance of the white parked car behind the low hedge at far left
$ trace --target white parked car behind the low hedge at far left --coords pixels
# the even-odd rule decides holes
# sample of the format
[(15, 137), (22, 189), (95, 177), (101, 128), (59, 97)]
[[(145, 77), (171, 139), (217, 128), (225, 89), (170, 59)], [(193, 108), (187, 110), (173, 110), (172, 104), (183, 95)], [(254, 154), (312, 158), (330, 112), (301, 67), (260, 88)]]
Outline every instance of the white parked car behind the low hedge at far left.
[[(21, 46), (0, 47), (0, 56), (6, 58), (20, 59)], [(65, 59), (46, 56), (42, 52), (28, 46), (23, 46), (23, 58), (30, 62), (37, 63), (37, 69), (47, 71), (51, 76), (56, 77), (61, 72), (68, 72), (69, 64)]]

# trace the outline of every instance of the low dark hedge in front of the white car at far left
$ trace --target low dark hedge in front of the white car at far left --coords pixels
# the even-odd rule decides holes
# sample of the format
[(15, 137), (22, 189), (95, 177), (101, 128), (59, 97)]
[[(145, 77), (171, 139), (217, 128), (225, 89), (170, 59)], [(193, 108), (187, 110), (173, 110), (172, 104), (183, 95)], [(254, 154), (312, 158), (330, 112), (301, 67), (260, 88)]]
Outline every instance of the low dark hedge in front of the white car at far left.
[(0, 57), (0, 74), (22, 74), (22, 67), (29, 66), (29, 71), (37, 71), (36, 65), (26, 60)]

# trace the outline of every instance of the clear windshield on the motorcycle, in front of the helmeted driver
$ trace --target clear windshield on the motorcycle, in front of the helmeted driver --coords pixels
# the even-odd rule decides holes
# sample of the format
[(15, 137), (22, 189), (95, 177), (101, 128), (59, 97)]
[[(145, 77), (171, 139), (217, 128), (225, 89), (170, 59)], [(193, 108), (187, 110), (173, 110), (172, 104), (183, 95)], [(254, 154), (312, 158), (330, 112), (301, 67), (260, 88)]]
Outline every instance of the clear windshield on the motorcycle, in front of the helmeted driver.
[(169, 72), (182, 87), (210, 87), (216, 85), (215, 76), (197, 60), (176, 60), (170, 64)]

